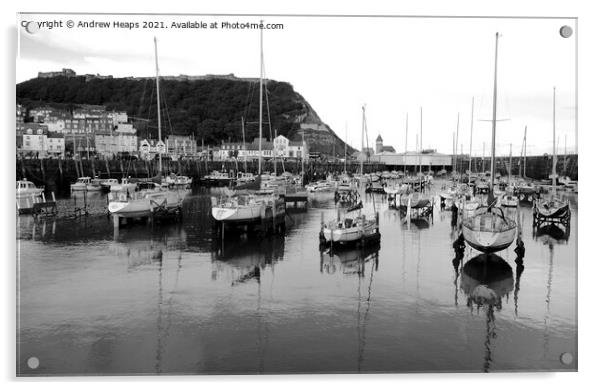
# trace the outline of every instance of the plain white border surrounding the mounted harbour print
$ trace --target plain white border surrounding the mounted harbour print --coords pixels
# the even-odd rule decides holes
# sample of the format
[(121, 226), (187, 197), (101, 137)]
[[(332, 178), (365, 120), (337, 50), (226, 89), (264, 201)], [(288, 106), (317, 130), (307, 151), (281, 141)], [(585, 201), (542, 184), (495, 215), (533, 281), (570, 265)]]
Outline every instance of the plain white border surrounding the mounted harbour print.
[[(344, 386), (345, 388), (362, 388), (376, 385), (385, 388), (400, 386), (437, 386), (446, 390), (467, 386), (478, 388), (485, 386), (487, 390), (513, 386), (538, 386), (548, 388), (590, 387), (596, 381), (599, 371), (598, 347), (600, 344), (598, 321), (599, 286), (602, 270), (602, 255), (596, 250), (595, 243), (600, 241), (600, 228), (594, 221), (601, 208), (600, 193), (595, 183), (600, 182), (602, 164), (596, 159), (602, 150), (600, 133), (601, 119), (598, 114), (602, 109), (600, 96), (600, 47), (602, 38), (600, 25), (601, 13), (596, 12), (595, 1), (515, 1), (490, 3), (486, 1), (420, 1), (410, 4), (395, 4), (384, 1), (345, 1), (326, 2), (324, 0), (304, 0), (294, 3), (285, 1), (219, 1), (196, 2), (170, 0), (168, 2), (150, 2), (148, 0), (130, 4), (123, 0), (104, 0), (102, 2), (84, 3), (81, 1), (42, 1), (10, 2), (3, 4), (1, 12), (2, 31), (4, 33), (2, 62), (2, 119), (4, 123), (4, 140), (1, 145), (2, 181), (0, 204), (6, 214), (11, 216), (10, 223), (2, 225), (2, 248), (6, 251), (3, 257), (3, 292), (2, 300), (4, 336), (1, 355), (2, 379), (4, 385), (25, 386), (26, 388), (43, 385), (49, 389), (101, 388), (131, 386), (131, 382), (144, 382), (147, 389), (158, 389), (168, 382), (178, 382), (178, 386), (225, 386), (226, 388), (245, 389), (266, 387), (305, 388), (307, 386)], [(13, 206), (13, 183), (15, 175), (14, 160), (14, 104), (15, 104), (15, 55), (16, 55), (16, 13), (18, 11), (71, 11), (71, 12), (197, 12), (197, 13), (287, 13), (287, 14), (405, 14), (405, 15), (489, 15), (489, 16), (575, 16), (579, 18), (579, 129), (580, 129), (580, 165), (581, 184), (579, 200), (581, 213), (578, 229), (579, 259), (579, 373), (558, 374), (399, 374), (399, 375), (291, 375), (291, 376), (184, 376), (184, 377), (87, 377), (87, 378), (15, 378), (15, 217)], [(9, 218), (4, 218), (9, 219)], [(82, 383), (85, 382), (85, 383)], [(138, 384), (136, 384), (138, 385)]]

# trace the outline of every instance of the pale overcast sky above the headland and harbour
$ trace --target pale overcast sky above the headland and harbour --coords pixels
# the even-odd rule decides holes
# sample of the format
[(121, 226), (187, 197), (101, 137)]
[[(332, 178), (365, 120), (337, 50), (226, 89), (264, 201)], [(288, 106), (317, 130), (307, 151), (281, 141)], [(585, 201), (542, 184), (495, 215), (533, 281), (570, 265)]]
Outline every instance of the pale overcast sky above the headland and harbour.
[[(259, 17), (21, 15), (23, 21), (258, 22)], [(452, 151), (460, 113), (460, 138), (469, 150), (471, 98), (475, 99), (472, 153), (489, 154), (495, 33), (499, 40), (497, 153), (520, 153), (528, 126), (528, 154), (552, 151), (552, 88), (556, 86), (559, 153), (565, 137), (575, 150), (575, 35), (559, 29), (572, 19), (448, 18), (263, 18), (282, 23), (264, 30), (266, 77), (290, 82), (322, 120), (360, 146), (361, 106), (368, 137), (385, 145), (416, 149), (423, 109), (423, 147)], [(78, 74), (114, 77), (154, 75), (153, 36), (159, 42), (162, 75), (234, 73), (259, 75), (259, 31), (227, 29), (20, 29), (17, 82), (38, 71), (71, 68)], [(489, 121), (488, 121), (489, 120)]]

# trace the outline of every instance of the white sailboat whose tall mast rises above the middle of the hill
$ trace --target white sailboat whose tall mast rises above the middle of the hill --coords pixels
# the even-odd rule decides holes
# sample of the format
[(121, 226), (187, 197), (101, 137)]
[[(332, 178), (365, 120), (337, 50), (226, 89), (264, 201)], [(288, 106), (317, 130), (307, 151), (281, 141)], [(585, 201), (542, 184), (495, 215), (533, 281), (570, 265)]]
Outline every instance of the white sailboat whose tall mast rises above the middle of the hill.
[(263, 30), (260, 30), (258, 175), (253, 182), (241, 184), (232, 190), (227, 189), (223, 199), (211, 198), (211, 215), (217, 222), (256, 222), (262, 218), (284, 215), (285, 212), (284, 199), (273, 192), (259, 192), (262, 188), (263, 77)]

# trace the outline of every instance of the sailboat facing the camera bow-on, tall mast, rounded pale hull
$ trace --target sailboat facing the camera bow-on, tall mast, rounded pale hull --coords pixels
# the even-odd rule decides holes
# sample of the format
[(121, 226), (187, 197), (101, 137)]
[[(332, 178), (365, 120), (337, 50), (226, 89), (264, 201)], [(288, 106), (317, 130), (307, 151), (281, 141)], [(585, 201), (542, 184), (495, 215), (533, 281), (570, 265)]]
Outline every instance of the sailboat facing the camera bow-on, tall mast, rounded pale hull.
[(495, 207), (493, 185), (495, 180), (495, 129), (497, 104), (497, 48), (499, 33), (495, 34), (495, 68), (493, 77), (493, 120), (491, 126), (491, 181), (486, 206), (480, 206), (474, 215), (462, 218), (462, 233), (466, 242), (484, 253), (506, 249), (516, 236), (516, 222), (506, 218), (504, 211)]

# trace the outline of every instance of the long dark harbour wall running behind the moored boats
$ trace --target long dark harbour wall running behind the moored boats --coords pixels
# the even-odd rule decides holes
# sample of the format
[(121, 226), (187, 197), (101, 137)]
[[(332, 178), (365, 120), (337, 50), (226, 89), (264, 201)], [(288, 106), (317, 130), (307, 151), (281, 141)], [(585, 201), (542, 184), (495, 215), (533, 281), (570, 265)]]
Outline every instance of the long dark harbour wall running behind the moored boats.
[[(520, 175), (522, 172), (522, 162), (519, 163), (518, 158), (513, 159), (512, 175)], [(566, 164), (565, 164), (566, 161)], [(528, 156), (527, 177), (532, 179), (546, 179), (552, 171), (551, 156)], [(167, 161), (162, 164), (163, 174), (176, 173), (186, 175), (193, 178), (194, 182), (198, 182), (203, 176), (210, 174), (212, 171), (232, 171), (234, 174), (238, 171), (247, 171), (257, 173), (257, 161), (235, 162), (235, 161), (203, 161), (203, 160), (180, 160)], [(464, 172), (468, 170), (468, 158), (458, 158), (458, 171)], [(508, 175), (508, 160), (498, 159), (496, 171), (502, 175)], [(304, 164), (302, 168), (300, 161), (279, 161), (277, 164), (273, 162), (264, 162), (262, 170), (264, 172), (274, 172), (280, 174), (283, 171), (293, 174), (301, 173), (302, 169), (307, 174), (309, 180), (317, 180), (325, 178), (329, 173), (341, 173), (347, 169), (347, 172), (355, 173), (360, 171), (358, 162), (348, 162), (345, 165), (342, 162), (320, 162), (310, 161)], [(419, 169), (414, 166), (407, 166), (406, 170), (410, 173), (414, 169)], [(431, 167), (433, 170), (441, 169), (442, 167)], [(451, 167), (443, 167), (449, 172)], [(490, 170), (490, 160), (486, 157), (472, 159), (472, 171), (482, 172)], [(385, 170), (403, 170), (403, 166), (386, 166), (377, 163), (364, 163), (364, 172), (372, 173)], [(428, 167), (423, 167), (423, 171)], [(520, 171), (519, 171), (520, 170)], [(578, 158), (577, 155), (567, 155), (558, 157), (556, 172), (559, 175), (569, 176), (573, 180), (578, 180)], [(44, 185), (47, 189), (61, 193), (69, 190), (69, 184), (75, 182), (78, 177), (98, 176), (100, 178), (122, 178), (122, 177), (138, 177), (147, 178), (156, 176), (159, 173), (159, 161), (145, 160), (73, 160), (73, 159), (17, 159), (16, 162), (16, 178), (17, 180), (27, 178), (36, 185)]]

